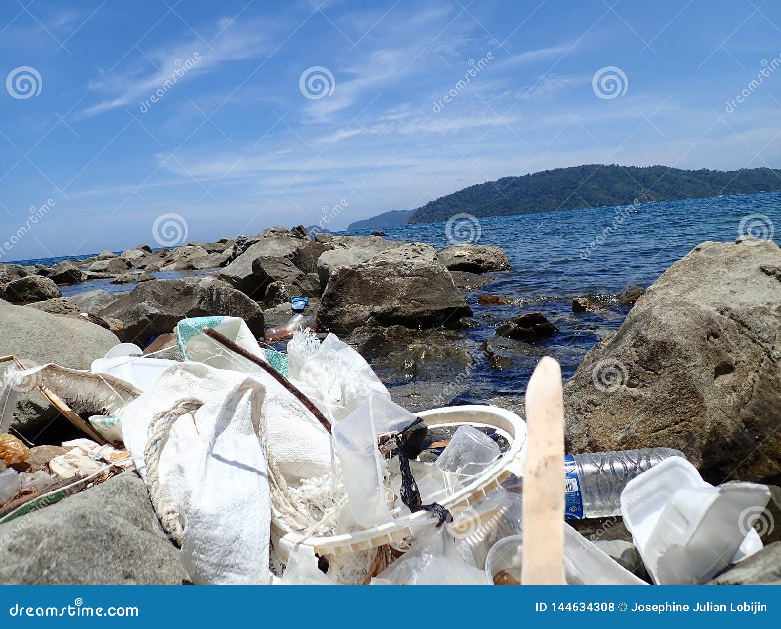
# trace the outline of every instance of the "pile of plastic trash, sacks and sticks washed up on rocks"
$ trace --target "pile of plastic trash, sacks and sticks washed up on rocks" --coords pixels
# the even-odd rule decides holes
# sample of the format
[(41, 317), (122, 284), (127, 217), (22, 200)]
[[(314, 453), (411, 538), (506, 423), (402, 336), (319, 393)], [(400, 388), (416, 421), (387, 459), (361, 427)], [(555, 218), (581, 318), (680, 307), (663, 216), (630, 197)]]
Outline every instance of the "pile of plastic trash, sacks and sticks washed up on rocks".
[[(670, 449), (565, 457), (549, 357), (526, 421), (412, 414), (353, 347), (298, 327), (284, 351), (211, 316), (177, 322), (178, 360), (122, 343), (90, 370), (0, 361), (2, 430), (32, 382), (90, 436), (2, 432), (0, 523), (128, 471), (195, 584), (698, 584), (763, 549), (765, 485), (714, 487)], [(620, 514), (640, 570), (567, 523), (584, 514)]]

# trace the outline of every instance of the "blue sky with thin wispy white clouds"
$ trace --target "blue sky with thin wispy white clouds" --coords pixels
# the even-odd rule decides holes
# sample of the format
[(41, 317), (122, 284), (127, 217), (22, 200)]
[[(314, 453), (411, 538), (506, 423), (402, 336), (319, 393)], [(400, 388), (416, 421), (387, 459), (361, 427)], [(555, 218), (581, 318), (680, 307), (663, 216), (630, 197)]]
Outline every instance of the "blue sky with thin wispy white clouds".
[(155, 246), (167, 213), (211, 241), (567, 165), (781, 166), (772, 0), (7, 0), (0, 29), (0, 240), (53, 202), (0, 261)]

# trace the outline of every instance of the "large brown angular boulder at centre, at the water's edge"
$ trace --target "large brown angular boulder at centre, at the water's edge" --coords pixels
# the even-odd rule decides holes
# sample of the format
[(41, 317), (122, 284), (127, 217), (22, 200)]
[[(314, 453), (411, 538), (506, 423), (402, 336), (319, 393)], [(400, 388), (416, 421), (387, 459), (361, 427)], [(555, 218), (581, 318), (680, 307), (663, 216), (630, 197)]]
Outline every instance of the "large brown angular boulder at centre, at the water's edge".
[(455, 325), (472, 314), (444, 266), (380, 261), (333, 272), (317, 311), (317, 325), (341, 335), (360, 325)]

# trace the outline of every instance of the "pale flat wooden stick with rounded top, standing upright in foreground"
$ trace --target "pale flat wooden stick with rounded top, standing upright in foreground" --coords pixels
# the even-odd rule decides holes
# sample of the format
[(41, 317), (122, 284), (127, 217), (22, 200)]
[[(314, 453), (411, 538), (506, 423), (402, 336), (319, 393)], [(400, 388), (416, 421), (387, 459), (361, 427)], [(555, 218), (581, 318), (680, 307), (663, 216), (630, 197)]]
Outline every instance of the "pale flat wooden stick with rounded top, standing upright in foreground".
[(544, 357), (526, 387), (523, 585), (565, 585), (562, 368)]

